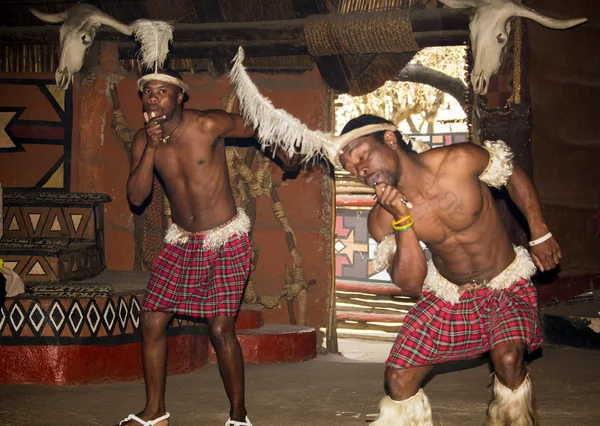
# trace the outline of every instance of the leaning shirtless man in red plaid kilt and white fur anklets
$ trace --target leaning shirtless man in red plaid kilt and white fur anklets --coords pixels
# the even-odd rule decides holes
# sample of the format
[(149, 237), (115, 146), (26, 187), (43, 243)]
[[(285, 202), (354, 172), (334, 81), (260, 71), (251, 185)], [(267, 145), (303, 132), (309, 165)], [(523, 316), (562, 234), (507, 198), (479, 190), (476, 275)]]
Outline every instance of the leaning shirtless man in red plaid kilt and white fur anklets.
[[(536, 424), (524, 356), (541, 347), (542, 332), (530, 277), (535, 266), (546, 271), (561, 258), (537, 192), (501, 141), (416, 154), (391, 124), (369, 115), (351, 120), (342, 134), (353, 136), (338, 151), (347, 171), (375, 187), (368, 226), (380, 242), (376, 261), (404, 294), (419, 296), (386, 362), (389, 396), (373, 426), (432, 425), (421, 389), (427, 373), (487, 351), (495, 369), (487, 424)], [(511, 243), (486, 185), (506, 186), (525, 215), (535, 265)]]

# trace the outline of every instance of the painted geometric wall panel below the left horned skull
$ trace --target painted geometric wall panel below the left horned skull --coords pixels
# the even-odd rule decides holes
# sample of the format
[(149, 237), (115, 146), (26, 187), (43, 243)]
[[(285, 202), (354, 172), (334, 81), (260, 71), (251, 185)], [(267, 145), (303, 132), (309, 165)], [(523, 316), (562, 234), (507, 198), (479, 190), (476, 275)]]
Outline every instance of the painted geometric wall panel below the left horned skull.
[(31, 178), (2, 175), (0, 179), (5, 186), (14, 181), (20, 184), (10, 186), (68, 191), (72, 89), (58, 90), (53, 80), (9, 78), (0, 79), (0, 90), (8, 105), (0, 107), (0, 160), (17, 164), (16, 168), (44, 164)]

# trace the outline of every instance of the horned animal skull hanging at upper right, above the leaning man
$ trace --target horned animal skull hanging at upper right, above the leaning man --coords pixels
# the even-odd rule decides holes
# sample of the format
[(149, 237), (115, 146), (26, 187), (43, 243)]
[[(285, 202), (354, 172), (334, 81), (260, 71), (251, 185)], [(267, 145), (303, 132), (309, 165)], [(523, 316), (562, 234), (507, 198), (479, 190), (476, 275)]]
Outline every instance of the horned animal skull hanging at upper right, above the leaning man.
[(533, 9), (512, 0), (439, 0), (453, 9), (473, 7), (475, 14), (471, 18), (471, 47), (475, 64), (471, 72), (471, 82), (475, 93), (487, 93), (490, 77), (498, 72), (502, 62), (502, 54), (508, 34), (510, 21), (513, 16), (529, 18), (552, 29), (567, 29), (582, 24), (587, 18), (554, 19), (542, 15)]

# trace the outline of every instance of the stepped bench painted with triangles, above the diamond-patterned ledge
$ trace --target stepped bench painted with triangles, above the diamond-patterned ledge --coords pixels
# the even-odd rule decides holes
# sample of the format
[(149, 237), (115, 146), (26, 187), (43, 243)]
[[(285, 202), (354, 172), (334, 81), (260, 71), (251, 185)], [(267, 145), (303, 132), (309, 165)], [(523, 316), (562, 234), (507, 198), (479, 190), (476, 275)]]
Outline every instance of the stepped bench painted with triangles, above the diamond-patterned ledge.
[(3, 194), (0, 257), (27, 284), (80, 280), (106, 267), (105, 194), (10, 191)]

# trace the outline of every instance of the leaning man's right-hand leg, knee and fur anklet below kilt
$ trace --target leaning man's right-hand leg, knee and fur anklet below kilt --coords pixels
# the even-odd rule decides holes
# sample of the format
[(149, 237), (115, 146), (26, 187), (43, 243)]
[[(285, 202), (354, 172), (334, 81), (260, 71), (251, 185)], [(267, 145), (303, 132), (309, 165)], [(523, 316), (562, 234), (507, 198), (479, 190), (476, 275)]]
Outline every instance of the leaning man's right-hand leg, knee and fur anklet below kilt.
[(525, 371), (526, 350), (523, 343), (507, 343), (491, 350), (496, 377), (486, 425), (538, 424), (531, 379)]

